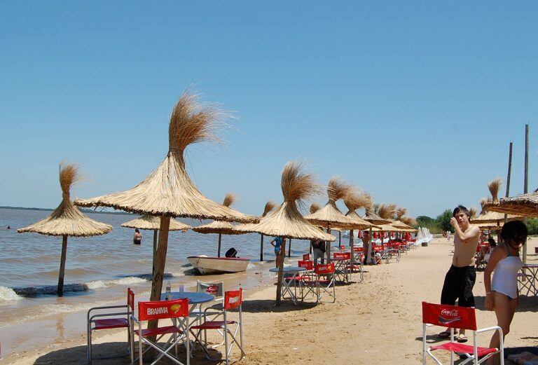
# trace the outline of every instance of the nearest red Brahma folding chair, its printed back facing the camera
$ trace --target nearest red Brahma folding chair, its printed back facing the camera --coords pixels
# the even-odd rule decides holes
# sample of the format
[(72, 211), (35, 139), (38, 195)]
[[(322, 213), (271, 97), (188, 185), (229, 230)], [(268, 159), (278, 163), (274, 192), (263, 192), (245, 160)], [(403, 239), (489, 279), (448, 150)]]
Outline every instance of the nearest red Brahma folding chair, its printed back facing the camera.
[[(153, 319), (172, 319), (171, 326), (157, 327), (156, 329), (142, 329), (142, 322), (151, 321)], [(138, 329), (135, 329), (137, 324)], [(186, 365), (190, 364), (191, 350), (190, 341), (188, 339), (188, 299), (174, 299), (172, 301), (152, 301), (138, 302), (138, 318), (131, 315), (131, 364), (135, 364), (135, 335), (138, 336), (138, 360), (139, 364), (143, 365), (142, 358), (144, 353), (151, 347), (159, 352), (159, 356), (151, 363), (156, 364), (163, 357), (167, 357), (174, 361), (175, 364), (184, 365), (177, 358), (177, 345), (185, 340), (186, 344)], [(159, 346), (158, 341), (165, 335), (170, 335), (170, 338)], [(151, 337), (156, 337), (155, 342), (151, 341)], [(146, 350), (143, 350), (142, 344), (147, 345)], [(170, 350), (174, 349), (175, 356), (170, 354)]]

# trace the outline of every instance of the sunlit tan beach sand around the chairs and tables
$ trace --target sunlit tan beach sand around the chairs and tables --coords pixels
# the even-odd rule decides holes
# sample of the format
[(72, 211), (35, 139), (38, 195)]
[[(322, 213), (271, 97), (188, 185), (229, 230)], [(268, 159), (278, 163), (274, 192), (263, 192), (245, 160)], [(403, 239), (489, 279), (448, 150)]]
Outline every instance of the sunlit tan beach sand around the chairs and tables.
[[(529, 263), (538, 239), (533, 237), (527, 252)], [(450, 267), (451, 245), (436, 238), (429, 247), (403, 254), (401, 261), (367, 266), (364, 282), (336, 288), (336, 303), (317, 306), (285, 301), (275, 308), (275, 286), (247, 291), (244, 301), (244, 349), (240, 364), (418, 364), (422, 359), (421, 302), (439, 303), (441, 287)], [(358, 275), (357, 275), (358, 276)], [(483, 273), (474, 287), (478, 327), (496, 324), (495, 313), (484, 308)], [(506, 347), (538, 345), (538, 298), (521, 296)], [(5, 364), (85, 364), (84, 323), (81, 334), (50, 343), (46, 347), (10, 354)], [(432, 334), (442, 331), (432, 329)], [(469, 333), (468, 333), (469, 334)], [(119, 352), (125, 331), (98, 334), (95, 353)], [(471, 338), (469, 338), (471, 340)], [(432, 340), (436, 340), (432, 336)], [(478, 345), (488, 345), (489, 334)], [(471, 342), (472, 343), (472, 342)], [(440, 355), (448, 359), (448, 354)], [(128, 364), (128, 359), (99, 360), (94, 364)], [(169, 361), (163, 361), (167, 364)], [(198, 351), (191, 364), (214, 364)]]

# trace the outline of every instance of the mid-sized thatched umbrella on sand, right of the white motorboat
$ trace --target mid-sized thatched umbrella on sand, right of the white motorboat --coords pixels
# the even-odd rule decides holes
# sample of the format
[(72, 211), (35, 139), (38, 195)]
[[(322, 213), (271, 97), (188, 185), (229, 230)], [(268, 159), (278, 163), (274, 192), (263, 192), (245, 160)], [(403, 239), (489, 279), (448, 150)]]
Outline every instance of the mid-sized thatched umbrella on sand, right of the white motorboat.
[[(336, 237), (324, 233), (316, 226), (308, 223), (298, 210), (298, 205), (303, 206), (304, 201), (319, 194), (319, 184), (313, 174), (303, 172), (303, 163), (291, 161), (282, 170), (282, 195), (284, 202), (274, 212), (264, 216), (259, 223), (242, 224), (236, 230), (243, 232), (256, 232), (263, 235), (277, 237), (297, 238), (298, 240), (323, 240), (334, 241)], [(277, 303), (280, 305), (280, 293), (282, 291), (282, 270), (284, 268), (284, 255), (286, 243), (283, 242), (281, 252), (282, 261), (278, 270)]]

